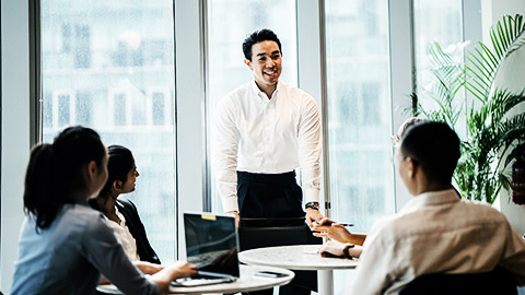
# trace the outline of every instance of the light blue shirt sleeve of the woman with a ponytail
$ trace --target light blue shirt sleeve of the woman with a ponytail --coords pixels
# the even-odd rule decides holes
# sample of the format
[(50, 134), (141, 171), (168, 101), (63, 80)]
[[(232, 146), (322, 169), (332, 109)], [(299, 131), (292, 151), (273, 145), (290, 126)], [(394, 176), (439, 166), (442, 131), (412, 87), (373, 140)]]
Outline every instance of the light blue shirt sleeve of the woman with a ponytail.
[(125, 294), (160, 294), (159, 285), (135, 267), (103, 217), (91, 221), (82, 236), (83, 252)]

